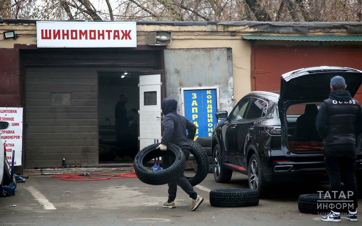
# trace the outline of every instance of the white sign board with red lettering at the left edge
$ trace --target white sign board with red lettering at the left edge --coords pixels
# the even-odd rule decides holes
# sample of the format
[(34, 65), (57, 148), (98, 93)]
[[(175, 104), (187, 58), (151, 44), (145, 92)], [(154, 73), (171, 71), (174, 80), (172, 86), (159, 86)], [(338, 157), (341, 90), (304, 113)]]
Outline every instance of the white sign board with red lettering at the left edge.
[[(7, 121), (9, 128), (0, 130), (1, 141), (5, 144), (6, 156), (11, 165), (14, 156), (14, 166), (21, 165), (22, 154), (22, 107), (0, 107), (0, 121)], [(0, 147), (0, 151), (3, 147)], [(2, 160), (1, 160), (2, 161)]]

